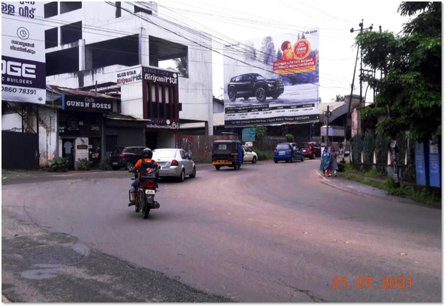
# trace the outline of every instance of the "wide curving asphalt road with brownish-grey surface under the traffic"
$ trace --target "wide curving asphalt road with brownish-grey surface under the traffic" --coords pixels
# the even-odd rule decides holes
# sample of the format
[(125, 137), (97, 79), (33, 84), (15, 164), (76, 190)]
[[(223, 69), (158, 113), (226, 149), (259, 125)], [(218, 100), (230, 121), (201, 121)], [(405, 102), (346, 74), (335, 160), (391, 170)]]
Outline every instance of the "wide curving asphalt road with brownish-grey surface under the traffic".
[[(2, 206), (235, 301), (441, 302), (441, 210), (334, 188), (318, 166), (201, 167), (195, 179), (163, 181), (148, 220), (127, 207), (124, 171), (11, 180)], [(346, 289), (333, 289), (335, 276)], [(361, 276), (373, 278), (368, 289), (357, 289)], [(412, 287), (382, 289), (392, 276)]]

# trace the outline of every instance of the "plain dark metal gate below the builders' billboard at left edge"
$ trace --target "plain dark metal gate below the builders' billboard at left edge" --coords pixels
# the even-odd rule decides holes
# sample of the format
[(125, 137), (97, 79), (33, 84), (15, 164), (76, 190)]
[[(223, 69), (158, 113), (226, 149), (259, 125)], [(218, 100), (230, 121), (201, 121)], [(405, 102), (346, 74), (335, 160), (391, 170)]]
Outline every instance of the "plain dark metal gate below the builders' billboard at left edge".
[(39, 167), (39, 135), (1, 131), (1, 167), (15, 170), (37, 169)]

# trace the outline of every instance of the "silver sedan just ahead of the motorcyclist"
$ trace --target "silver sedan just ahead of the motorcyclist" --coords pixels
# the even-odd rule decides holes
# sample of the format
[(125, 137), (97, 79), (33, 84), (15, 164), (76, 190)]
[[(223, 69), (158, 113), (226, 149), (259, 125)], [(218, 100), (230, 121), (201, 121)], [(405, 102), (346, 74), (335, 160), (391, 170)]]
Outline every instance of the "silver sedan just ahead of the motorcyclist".
[(176, 177), (183, 182), (186, 176), (196, 176), (195, 162), (183, 149), (161, 148), (153, 151), (153, 160), (161, 166), (160, 177)]

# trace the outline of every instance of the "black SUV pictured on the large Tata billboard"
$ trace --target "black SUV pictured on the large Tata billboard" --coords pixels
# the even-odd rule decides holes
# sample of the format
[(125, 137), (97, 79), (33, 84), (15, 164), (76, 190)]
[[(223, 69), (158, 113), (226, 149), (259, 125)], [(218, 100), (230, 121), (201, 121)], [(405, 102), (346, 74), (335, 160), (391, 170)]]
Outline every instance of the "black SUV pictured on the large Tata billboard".
[(231, 102), (243, 97), (248, 100), (256, 97), (264, 102), (267, 97), (276, 99), (283, 93), (283, 82), (280, 79), (265, 79), (259, 74), (245, 74), (232, 77), (228, 83), (228, 96)]

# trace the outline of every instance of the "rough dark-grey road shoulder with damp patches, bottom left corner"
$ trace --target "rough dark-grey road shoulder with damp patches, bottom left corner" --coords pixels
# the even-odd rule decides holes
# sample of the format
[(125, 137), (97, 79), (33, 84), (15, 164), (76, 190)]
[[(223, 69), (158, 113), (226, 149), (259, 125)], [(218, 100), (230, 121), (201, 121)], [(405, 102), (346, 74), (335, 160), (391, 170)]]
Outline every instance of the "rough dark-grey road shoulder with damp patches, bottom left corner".
[(2, 208), (2, 302), (231, 302), (48, 233)]

